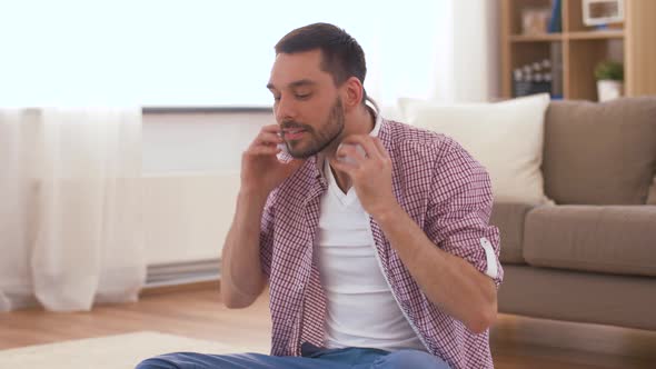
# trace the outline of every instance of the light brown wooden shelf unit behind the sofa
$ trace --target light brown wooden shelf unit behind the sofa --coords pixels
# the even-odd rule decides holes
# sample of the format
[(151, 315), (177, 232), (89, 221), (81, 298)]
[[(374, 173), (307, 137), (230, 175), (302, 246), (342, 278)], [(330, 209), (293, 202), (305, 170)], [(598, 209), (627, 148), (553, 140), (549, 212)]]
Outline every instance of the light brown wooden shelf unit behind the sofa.
[(514, 69), (554, 52), (561, 59), (561, 79), (554, 84), (565, 99), (597, 100), (594, 69), (603, 60), (624, 64), (625, 96), (656, 94), (656, 0), (624, 0), (624, 23), (606, 30), (583, 23), (582, 2), (561, 0), (561, 32), (521, 34), (521, 11), (550, 9), (551, 0), (499, 0), (503, 98), (514, 96)]

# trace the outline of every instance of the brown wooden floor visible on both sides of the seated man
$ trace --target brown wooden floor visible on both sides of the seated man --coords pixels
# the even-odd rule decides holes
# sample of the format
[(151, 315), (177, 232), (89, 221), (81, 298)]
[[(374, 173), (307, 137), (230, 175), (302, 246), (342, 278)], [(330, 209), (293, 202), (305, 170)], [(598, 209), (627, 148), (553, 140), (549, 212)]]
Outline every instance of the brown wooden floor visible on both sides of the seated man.
[[(268, 352), (267, 297), (262, 296), (243, 310), (228, 310), (220, 302), (218, 287), (205, 285), (150, 291), (139, 302), (99, 306), (92, 312), (56, 313), (33, 309), (0, 313), (0, 349), (156, 330)], [(500, 315), (490, 341), (495, 367), (656, 368), (656, 332), (627, 332), (603, 326), (584, 328), (576, 323)], [(582, 341), (587, 343), (577, 343)]]

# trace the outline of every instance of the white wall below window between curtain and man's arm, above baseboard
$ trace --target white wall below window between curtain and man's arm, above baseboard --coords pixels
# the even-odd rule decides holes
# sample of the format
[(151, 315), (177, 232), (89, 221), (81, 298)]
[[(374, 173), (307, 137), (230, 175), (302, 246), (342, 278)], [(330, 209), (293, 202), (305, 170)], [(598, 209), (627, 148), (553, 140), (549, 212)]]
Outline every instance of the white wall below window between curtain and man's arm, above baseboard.
[(232, 220), (241, 152), (270, 112), (143, 117), (149, 265), (216, 259)]

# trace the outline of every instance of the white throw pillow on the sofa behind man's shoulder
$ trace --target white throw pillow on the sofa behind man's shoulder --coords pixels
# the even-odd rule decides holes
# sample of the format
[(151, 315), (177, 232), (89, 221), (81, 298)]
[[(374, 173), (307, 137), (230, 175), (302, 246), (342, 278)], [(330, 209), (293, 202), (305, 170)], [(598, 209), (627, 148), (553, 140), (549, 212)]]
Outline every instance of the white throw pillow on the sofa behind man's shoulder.
[(545, 111), (549, 94), (494, 103), (399, 99), (404, 120), (454, 138), (487, 169), (495, 201), (545, 203)]

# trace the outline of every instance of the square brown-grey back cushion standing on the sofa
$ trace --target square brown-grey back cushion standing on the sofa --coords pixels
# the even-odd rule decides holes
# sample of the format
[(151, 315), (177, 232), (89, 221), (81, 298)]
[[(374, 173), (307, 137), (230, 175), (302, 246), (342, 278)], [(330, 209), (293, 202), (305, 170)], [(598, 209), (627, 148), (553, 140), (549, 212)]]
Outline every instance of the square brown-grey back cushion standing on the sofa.
[(551, 102), (543, 170), (545, 192), (557, 203), (646, 203), (656, 170), (656, 97)]

